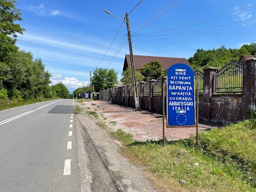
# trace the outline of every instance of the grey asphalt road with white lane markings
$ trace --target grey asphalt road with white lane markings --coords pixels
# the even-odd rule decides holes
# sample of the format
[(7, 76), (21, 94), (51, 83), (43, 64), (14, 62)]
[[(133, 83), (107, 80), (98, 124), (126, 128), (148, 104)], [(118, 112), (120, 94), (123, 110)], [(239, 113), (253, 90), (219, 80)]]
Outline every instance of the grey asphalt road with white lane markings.
[(0, 111), (0, 191), (81, 191), (73, 105)]

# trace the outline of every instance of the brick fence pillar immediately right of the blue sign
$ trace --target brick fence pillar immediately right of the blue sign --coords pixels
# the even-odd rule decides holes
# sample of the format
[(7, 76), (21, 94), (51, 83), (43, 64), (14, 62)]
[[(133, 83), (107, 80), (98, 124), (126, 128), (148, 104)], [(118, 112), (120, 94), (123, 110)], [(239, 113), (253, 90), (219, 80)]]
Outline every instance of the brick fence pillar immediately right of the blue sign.
[(204, 92), (203, 92), (203, 102), (199, 106), (199, 116), (203, 118), (204, 121), (211, 121), (211, 95), (215, 93), (215, 76), (219, 68), (217, 67), (207, 67), (204, 69)]

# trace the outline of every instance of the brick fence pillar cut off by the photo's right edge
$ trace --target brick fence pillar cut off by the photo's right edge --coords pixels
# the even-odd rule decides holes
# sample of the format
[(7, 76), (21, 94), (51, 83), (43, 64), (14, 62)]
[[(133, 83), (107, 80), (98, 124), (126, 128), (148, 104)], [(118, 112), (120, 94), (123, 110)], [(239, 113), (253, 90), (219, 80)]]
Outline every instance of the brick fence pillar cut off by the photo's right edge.
[(246, 111), (256, 110), (256, 61), (246, 59), (243, 61), (243, 97), (242, 97), (242, 115), (247, 116)]

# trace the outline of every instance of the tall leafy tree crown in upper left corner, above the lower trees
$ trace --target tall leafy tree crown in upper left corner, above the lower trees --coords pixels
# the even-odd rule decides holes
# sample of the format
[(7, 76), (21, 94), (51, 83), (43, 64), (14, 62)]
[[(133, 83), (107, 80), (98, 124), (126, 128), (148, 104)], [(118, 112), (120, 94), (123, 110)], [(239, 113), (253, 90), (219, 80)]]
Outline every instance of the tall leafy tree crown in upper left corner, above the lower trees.
[(15, 0), (0, 1), (0, 62), (4, 61), (11, 52), (18, 50), (15, 46), (17, 33), (23, 34), (25, 29), (15, 23), (21, 21), (20, 10), (14, 6)]

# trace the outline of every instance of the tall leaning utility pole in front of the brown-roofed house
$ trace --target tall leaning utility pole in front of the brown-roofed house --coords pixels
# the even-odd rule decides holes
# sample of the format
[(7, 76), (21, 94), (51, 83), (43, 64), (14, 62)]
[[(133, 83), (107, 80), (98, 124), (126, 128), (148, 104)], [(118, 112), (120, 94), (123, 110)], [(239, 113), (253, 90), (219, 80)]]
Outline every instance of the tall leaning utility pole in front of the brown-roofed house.
[(128, 15), (129, 15), (128, 13), (125, 14), (129, 48), (130, 48), (131, 67), (132, 67), (133, 97), (134, 97), (134, 101), (135, 101), (135, 110), (138, 111), (138, 110), (140, 110), (140, 101), (139, 101), (138, 87), (137, 87), (137, 81), (136, 81), (135, 70), (134, 70), (133, 53), (132, 53), (132, 38), (131, 38), (130, 23), (129, 23)]

